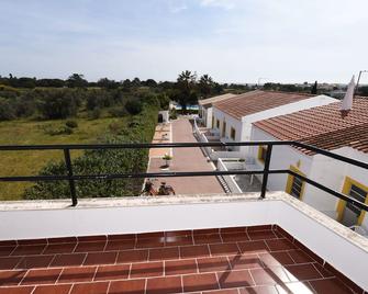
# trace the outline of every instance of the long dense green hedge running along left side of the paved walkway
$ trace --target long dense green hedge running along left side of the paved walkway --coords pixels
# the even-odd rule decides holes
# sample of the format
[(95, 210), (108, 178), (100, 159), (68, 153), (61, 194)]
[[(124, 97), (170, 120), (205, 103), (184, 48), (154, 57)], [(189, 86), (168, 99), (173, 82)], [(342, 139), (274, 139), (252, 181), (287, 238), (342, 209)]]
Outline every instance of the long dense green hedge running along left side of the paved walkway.
[[(102, 144), (149, 143), (157, 124), (159, 106), (145, 104), (140, 115), (133, 117), (134, 126), (119, 127), (116, 134), (109, 132)], [(75, 174), (113, 174), (146, 172), (148, 149), (88, 150), (73, 160)], [(67, 174), (65, 162), (49, 162), (40, 172), (42, 176)], [(107, 197), (138, 195), (143, 179), (80, 180), (76, 181), (78, 197)], [(68, 181), (37, 182), (24, 192), (24, 199), (70, 197)]]

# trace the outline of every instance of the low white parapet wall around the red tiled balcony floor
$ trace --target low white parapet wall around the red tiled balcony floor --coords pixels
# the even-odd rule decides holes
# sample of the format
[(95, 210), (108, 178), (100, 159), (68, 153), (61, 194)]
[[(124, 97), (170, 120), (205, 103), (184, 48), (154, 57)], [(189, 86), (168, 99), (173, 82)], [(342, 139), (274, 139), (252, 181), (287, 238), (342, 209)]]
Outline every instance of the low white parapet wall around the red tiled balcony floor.
[(277, 224), (368, 290), (368, 239), (283, 192), (4, 202), (0, 239), (148, 233)]

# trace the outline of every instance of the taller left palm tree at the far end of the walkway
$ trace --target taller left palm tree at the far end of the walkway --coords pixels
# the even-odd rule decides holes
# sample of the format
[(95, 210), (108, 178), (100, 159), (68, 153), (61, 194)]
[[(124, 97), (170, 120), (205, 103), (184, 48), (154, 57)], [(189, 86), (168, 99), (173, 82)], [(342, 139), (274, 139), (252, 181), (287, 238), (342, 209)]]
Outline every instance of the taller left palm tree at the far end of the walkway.
[(177, 91), (174, 92), (172, 99), (179, 102), (183, 111), (187, 111), (188, 104), (196, 104), (198, 97), (194, 91), (197, 74), (190, 70), (182, 71), (176, 83)]

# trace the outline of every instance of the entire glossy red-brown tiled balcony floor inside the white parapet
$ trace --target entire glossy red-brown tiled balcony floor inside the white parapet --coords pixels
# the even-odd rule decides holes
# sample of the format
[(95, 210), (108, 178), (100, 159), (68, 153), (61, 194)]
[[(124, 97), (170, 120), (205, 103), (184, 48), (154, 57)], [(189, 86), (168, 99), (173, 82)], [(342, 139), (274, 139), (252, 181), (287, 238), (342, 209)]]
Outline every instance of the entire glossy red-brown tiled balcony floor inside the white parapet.
[(278, 226), (0, 242), (0, 294), (363, 293)]

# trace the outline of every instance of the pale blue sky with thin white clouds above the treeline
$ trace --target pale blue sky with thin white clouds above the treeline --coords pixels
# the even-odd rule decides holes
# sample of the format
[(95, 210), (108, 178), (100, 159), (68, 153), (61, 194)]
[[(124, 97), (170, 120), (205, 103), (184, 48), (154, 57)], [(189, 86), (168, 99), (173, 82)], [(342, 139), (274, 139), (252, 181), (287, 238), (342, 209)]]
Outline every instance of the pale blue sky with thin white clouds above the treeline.
[(347, 83), (368, 69), (367, 11), (367, 0), (0, 0), (0, 75)]

